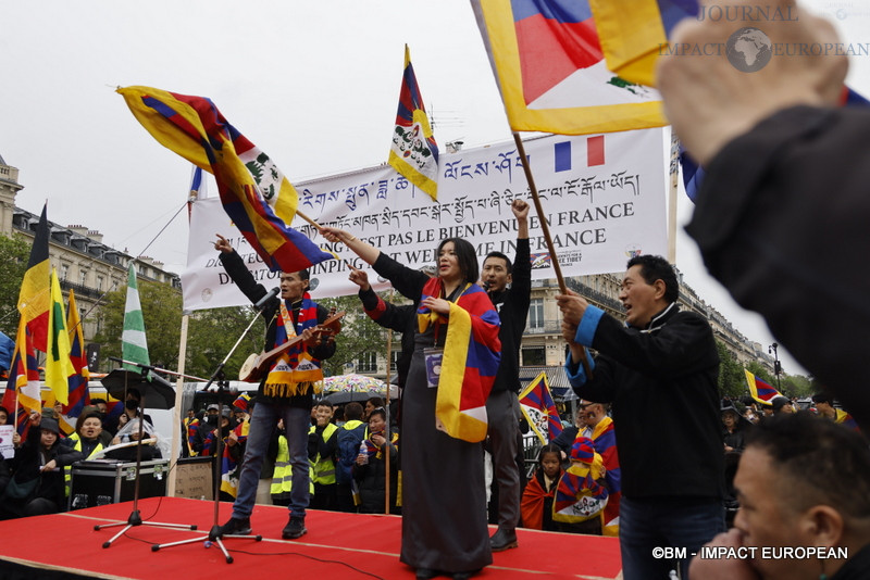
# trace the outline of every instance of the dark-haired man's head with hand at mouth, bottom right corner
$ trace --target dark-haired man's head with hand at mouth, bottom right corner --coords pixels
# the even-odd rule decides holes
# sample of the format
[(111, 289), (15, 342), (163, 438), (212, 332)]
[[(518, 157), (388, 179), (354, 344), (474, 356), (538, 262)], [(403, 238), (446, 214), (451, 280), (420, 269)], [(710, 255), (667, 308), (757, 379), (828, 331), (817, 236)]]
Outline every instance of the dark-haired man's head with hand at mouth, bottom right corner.
[(870, 449), (861, 436), (806, 412), (771, 417), (747, 432), (734, 488), (734, 529), (711, 544), (743, 546), (751, 557), (696, 557), (693, 578), (818, 580), (844, 566), (858, 568), (848, 578), (867, 578), (868, 555), (856, 559), (870, 544)]

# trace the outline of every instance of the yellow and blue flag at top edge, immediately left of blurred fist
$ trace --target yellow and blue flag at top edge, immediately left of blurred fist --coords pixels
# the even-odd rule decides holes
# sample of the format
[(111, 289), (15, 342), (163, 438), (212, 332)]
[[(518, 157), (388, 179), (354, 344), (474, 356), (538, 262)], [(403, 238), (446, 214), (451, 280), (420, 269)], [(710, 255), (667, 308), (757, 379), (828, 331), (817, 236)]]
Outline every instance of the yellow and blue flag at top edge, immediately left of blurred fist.
[(697, 0), (589, 0), (589, 7), (607, 67), (648, 87), (656, 86), (656, 60), (673, 27), (698, 14)]

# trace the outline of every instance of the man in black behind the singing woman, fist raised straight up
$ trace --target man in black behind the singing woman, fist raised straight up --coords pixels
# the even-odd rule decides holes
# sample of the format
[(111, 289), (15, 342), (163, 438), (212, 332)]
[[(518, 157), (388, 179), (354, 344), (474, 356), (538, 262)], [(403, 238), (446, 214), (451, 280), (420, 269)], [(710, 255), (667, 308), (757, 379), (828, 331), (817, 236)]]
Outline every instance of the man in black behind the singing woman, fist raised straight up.
[[(501, 362), (493, 390), (486, 400), (487, 437), (493, 455), (493, 477), (498, 483), (498, 530), (489, 539), (493, 552), (517, 547), (517, 524), (520, 520), (520, 466), (517, 464), (520, 442), (520, 341), (525, 330), (532, 293), (532, 262), (529, 245), (529, 204), (513, 200), (517, 217), (517, 256), (492, 252), (483, 261), (482, 286), (489, 294), (501, 319), (498, 339)], [(510, 287), (508, 285), (510, 283)]]

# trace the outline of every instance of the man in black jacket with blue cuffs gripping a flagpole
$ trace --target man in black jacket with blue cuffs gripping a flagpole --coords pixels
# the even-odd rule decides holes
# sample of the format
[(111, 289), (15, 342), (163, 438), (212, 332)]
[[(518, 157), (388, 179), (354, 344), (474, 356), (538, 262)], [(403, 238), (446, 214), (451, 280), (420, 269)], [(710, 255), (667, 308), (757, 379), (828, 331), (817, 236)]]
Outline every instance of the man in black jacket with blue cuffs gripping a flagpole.
[[(688, 555), (724, 530), (719, 355), (709, 323), (680, 312), (678, 297), (673, 268), (651, 255), (629, 261), (619, 294), (625, 325), (573, 292), (556, 297), (574, 391), (612, 403), (625, 580), (667, 578), (670, 563), (656, 559), (654, 547)], [(592, 362), (583, 346), (598, 357)], [(680, 566), (687, 578), (688, 560)]]

